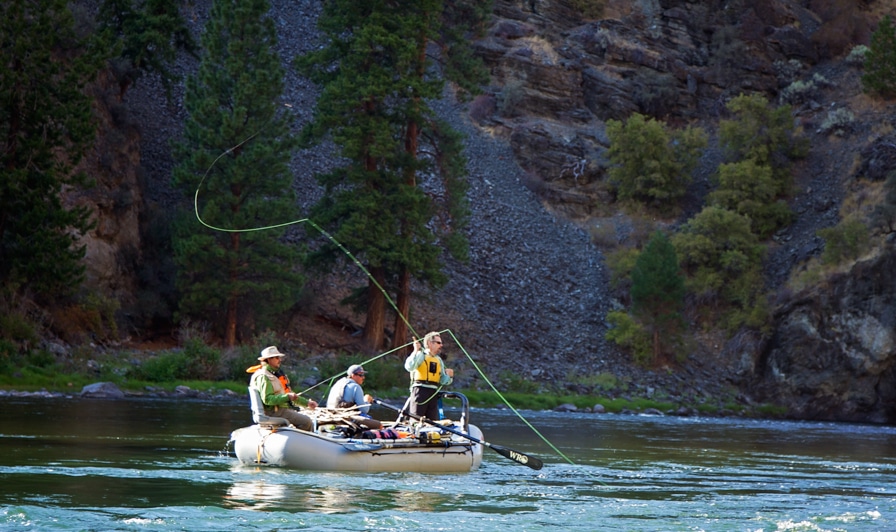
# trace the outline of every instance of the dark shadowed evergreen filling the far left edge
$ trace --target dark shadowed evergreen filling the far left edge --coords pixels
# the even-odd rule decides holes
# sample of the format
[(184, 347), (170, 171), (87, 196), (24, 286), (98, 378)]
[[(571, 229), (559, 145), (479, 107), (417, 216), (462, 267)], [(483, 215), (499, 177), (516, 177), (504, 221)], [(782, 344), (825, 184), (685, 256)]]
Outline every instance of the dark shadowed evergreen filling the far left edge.
[(60, 195), (89, 184), (74, 168), (93, 142), (84, 88), (106, 46), (76, 35), (67, 5), (0, 4), (0, 282), (53, 297), (83, 278), (91, 213)]

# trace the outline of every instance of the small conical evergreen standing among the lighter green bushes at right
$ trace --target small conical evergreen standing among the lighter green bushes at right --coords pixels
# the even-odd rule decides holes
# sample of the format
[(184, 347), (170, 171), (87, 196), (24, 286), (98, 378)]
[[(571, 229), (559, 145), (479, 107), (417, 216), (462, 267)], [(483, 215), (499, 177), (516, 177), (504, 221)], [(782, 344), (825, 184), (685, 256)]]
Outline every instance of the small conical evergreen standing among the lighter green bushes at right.
[(675, 247), (662, 231), (653, 234), (632, 270), (632, 313), (653, 338), (653, 358), (678, 338), (684, 305), (684, 275)]

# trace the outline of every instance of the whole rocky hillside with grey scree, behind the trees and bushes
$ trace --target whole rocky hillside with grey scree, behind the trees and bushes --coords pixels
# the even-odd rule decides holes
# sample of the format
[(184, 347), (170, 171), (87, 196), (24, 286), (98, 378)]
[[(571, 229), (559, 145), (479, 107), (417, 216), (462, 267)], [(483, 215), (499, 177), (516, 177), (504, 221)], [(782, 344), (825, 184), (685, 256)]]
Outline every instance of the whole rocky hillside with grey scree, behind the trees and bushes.
[[(418, 292), (415, 328), (451, 329), (493, 378), (507, 372), (588, 392), (593, 376), (608, 372), (619, 377), (619, 393), (674, 400), (719, 397), (739, 387), (743, 400), (774, 400), (795, 417), (893, 421), (892, 250), (804, 292), (781, 288), (792, 271), (820, 253), (815, 231), (837, 222), (848, 192), (863, 179), (880, 179), (891, 166), (886, 124), (893, 112), (861, 94), (860, 72), (843, 57), (868, 43), (880, 13), (893, 3), (496, 0), (492, 23), (475, 43), (492, 84), (469, 105), (450, 96), (440, 104), (443, 116), (468, 136), (472, 261), (449, 263), (451, 282), (440, 292)], [(197, 32), (208, 4), (194, 4)], [(272, 4), (288, 62), (314, 46), (319, 5)], [(587, 5), (602, 9), (583, 9)], [(186, 74), (194, 66), (185, 58), (179, 68)], [(617, 212), (605, 181), (605, 122), (641, 112), (712, 130), (728, 98), (758, 91), (774, 101), (792, 82), (815, 74), (832, 83), (795, 106), (813, 149), (796, 176), (798, 219), (771, 243), (768, 278), (778, 290), (774, 332), (727, 341), (704, 337), (677, 368), (633, 366), (603, 340), (604, 316), (618, 303), (602, 250), (607, 241), (624, 242), (633, 223)], [(290, 73), (284, 99), (299, 123), (310, 116), (314, 97), (315, 88)], [(117, 176), (104, 180), (93, 200), (99, 226), (88, 242), (91, 280), (125, 303), (137, 331), (166, 308), (170, 313), (170, 261), (154, 228), (164, 225), (179, 201), (168, 185), (168, 142), (179, 135), (183, 119), (178, 98), (166, 102), (147, 79), (124, 102), (112, 102), (101, 113), (109, 117), (103, 142), (120, 149), (98, 147), (91, 163)], [(855, 123), (838, 134), (821, 131), (838, 107), (850, 109)], [(116, 125), (116, 116), (130, 126)], [(861, 160), (855, 154), (863, 154)], [(319, 194), (313, 174), (326, 170), (329, 160), (326, 147), (296, 155), (301, 206)], [(718, 160), (711, 147), (698, 171), (693, 206), (700, 205)], [(142, 231), (135, 234), (138, 219)], [(597, 233), (603, 236), (589, 238)], [(313, 301), (283, 333), (312, 351), (350, 342), (363, 320), (336, 301), (357, 281), (357, 272), (348, 270), (316, 280)], [(325, 334), (322, 323), (339, 324), (341, 340)], [(452, 363), (463, 367), (455, 353)], [(466, 368), (461, 381), (476, 377)]]

